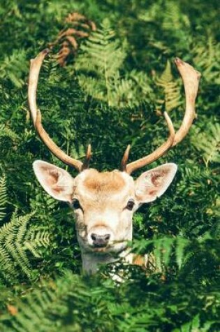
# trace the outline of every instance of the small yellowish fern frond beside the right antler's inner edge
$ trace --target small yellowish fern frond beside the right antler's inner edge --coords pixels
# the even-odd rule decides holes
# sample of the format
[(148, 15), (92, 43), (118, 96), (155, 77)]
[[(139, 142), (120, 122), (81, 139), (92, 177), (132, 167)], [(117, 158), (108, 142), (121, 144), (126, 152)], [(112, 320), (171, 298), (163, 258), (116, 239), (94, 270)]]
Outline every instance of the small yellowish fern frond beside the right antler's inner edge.
[(170, 112), (170, 110), (177, 108), (181, 104), (181, 101), (179, 101), (179, 86), (177, 85), (177, 82), (173, 80), (169, 61), (167, 62), (166, 68), (162, 75), (156, 79), (156, 85), (163, 89), (163, 99), (157, 100), (159, 110), (165, 108), (167, 112)]

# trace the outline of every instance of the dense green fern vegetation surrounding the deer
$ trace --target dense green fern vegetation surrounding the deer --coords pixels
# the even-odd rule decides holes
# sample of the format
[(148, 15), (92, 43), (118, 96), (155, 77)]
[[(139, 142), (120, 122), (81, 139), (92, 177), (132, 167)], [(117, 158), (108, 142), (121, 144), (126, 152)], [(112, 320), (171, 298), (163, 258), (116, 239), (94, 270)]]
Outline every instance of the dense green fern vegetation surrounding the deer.
[[(1, 1), (0, 331), (220, 331), (218, 9), (215, 0)], [(115, 266), (121, 284), (112, 266), (82, 275), (73, 215), (32, 171), (36, 159), (63, 166), (27, 106), (29, 59), (48, 46), (45, 128), (79, 158), (91, 143), (101, 170), (117, 168), (129, 143), (131, 160), (154, 150), (167, 135), (164, 110), (178, 128), (184, 91), (173, 57), (203, 74), (193, 128), (152, 165), (177, 163), (175, 181), (135, 215), (133, 251), (156, 261), (147, 274)]]

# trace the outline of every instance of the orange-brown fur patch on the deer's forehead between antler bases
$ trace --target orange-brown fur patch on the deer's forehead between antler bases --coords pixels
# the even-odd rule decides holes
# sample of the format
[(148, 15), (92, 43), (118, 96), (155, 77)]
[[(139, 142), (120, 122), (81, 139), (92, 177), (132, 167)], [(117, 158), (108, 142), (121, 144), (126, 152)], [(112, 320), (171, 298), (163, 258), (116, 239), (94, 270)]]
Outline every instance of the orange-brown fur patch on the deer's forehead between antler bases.
[(85, 178), (84, 185), (87, 189), (98, 191), (106, 190), (110, 192), (117, 192), (119, 189), (124, 187), (125, 181), (122, 175), (118, 171), (99, 173), (94, 170), (94, 176)]

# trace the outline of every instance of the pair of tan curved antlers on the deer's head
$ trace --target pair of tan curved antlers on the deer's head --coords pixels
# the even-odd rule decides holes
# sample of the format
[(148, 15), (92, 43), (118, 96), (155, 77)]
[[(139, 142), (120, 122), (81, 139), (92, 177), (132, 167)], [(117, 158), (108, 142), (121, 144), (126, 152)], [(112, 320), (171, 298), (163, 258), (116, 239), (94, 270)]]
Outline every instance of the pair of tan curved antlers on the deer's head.
[[(45, 143), (45, 145), (52, 152), (52, 154), (54, 154), (65, 164), (73, 166), (78, 171), (83, 171), (85, 168), (88, 168), (89, 166), (89, 160), (91, 158), (91, 145), (88, 146), (85, 161), (84, 163), (82, 163), (82, 161), (73, 159), (69, 157), (65, 152), (63, 152), (47, 135), (47, 132), (45, 131), (43, 125), (41, 124), (41, 112), (40, 110), (38, 110), (36, 106), (36, 89), (38, 85), (38, 76), (41, 69), (41, 65), (48, 52), (49, 50), (43, 50), (41, 53), (39, 53), (39, 55), (35, 59), (31, 59), (31, 66), (29, 73), (29, 87), (28, 87), (28, 98), (29, 98), (29, 107), (31, 110), (31, 117), (34, 122), (34, 127), (38, 132), (38, 135), (40, 136), (43, 143)], [(181, 140), (183, 140), (186, 134), (188, 133), (191, 124), (193, 123), (193, 120), (196, 117), (195, 101), (198, 93), (198, 83), (200, 79), (200, 73), (196, 71), (192, 66), (186, 64), (186, 62), (183, 62), (179, 58), (175, 59), (175, 64), (182, 77), (182, 81), (184, 83), (185, 95), (186, 95), (186, 110), (182, 124), (179, 127), (177, 133), (175, 133), (175, 129), (173, 127), (172, 121), (170, 120), (170, 117), (166, 112), (164, 112), (164, 117), (166, 119), (168, 129), (170, 132), (168, 139), (166, 140), (165, 143), (163, 143), (151, 154), (136, 161), (133, 161), (127, 165), (127, 161), (129, 159), (129, 151), (131, 148), (131, 146), (128, 145), (126, 151), (124, 152), (124, 157), (122, 159), (122, 164), (121, 164), (122, 171), (126, 171), (126, 173), (131, 174), (136, 169), (151, 164), (153, 161), (163, 156), (163, 154), (165, 154), (171, 147), (181, 142)]]

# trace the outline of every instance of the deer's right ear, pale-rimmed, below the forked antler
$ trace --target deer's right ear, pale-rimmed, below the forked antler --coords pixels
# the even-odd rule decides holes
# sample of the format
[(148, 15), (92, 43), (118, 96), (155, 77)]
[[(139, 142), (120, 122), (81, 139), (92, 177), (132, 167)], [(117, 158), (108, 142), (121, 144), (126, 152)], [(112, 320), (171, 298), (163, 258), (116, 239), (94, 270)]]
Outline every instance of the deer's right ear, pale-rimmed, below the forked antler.
[(175, 177), (176, 164), (164, 164), (142, 173), (135, 180), (135, 196), (138, 203), (149, 203), (163, 195)]

